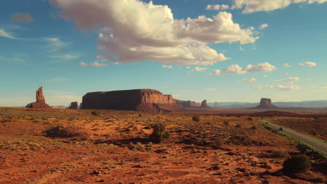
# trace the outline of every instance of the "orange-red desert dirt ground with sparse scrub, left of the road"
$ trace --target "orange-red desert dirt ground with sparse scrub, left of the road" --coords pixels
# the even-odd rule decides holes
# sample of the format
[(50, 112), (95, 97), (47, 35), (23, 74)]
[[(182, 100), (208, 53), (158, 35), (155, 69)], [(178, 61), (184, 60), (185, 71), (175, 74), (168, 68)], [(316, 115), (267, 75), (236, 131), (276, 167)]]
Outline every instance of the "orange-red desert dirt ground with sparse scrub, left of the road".
[[(296, 142), (256, 117), (198, 114), (194, 122), (191, 113), (98, 112), (0, 107), (0, 183), (327, 182), (315, 167), (284, 176), (285, 158), (271, 151), (297, 153)], [(170, 142), (151, 142), (154, 123), (167, 125)], [(212, 148), (215, 137), (224, 146)]]

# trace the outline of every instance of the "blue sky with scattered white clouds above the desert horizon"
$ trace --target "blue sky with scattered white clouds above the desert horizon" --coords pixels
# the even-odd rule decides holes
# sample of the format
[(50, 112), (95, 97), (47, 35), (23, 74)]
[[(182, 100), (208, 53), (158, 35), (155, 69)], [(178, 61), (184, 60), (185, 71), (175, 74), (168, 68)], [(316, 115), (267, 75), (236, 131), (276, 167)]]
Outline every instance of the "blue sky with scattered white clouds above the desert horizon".
[(4, 0), (0, 106), (35, 101), (39, 86), (49, 105), (121, 89), (326, 100), (327, 0), (278, 2)]

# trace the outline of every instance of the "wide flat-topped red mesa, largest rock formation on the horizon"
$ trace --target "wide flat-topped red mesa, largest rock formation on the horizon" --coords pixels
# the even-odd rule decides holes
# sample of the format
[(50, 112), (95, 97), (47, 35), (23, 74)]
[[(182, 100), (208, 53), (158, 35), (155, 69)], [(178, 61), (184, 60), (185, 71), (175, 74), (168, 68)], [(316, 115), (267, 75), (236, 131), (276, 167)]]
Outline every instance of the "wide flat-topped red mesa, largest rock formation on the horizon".
[(165, 112), (163, 107), (177, 107), (172, 95), (154, 89), (132, 89), (87, 93), (81, 109), (115, 109), (140, 112)]

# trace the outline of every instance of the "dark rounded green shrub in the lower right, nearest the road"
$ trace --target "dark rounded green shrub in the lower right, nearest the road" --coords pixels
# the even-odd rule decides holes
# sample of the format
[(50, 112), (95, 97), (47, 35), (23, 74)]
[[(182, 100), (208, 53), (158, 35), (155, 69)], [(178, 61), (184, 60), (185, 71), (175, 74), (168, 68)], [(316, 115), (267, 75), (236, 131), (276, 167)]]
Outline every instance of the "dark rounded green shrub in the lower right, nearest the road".
[(300, 173), (311, 168), (310, 158), (307, 155), (292, 155), (283, 164), (283, 171), (286, 173)]

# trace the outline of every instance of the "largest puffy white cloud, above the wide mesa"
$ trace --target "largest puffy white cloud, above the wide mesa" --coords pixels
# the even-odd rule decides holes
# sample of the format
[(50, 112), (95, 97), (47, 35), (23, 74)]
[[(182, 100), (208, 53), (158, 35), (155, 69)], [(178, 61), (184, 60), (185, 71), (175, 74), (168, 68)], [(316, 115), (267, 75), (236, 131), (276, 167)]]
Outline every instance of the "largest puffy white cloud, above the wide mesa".
[[(242, 29), (231, 13), (176, 20), (168, 6), (137, 0), (50, 0), (61, 17), (78, 29), (99, 32), (101, 58), (122, 63), (157, 61), (208, 66), (228, 60), (209, 43), (254, 43), (253, 29)], [(85, 12), (91, 12), (85, 14)]]

